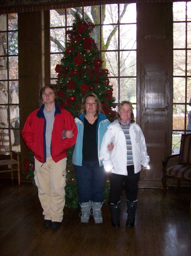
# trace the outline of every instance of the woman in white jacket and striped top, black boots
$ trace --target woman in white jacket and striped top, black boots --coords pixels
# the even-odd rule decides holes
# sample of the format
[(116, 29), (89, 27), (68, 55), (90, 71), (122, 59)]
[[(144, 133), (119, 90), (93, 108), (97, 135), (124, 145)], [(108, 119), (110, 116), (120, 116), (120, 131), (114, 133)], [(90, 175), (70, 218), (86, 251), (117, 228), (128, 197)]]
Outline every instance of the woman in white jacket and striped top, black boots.
[[(129, 101), (122, 101), (117, 112), (117, 119), (110, 124), (102, 140), (100, 159), (109, 172), (110, 209), (112, 226), (120, 227), (120, 197), (125, 184), (127, 197), (126, 227), (134, 226), (137, 206), (138, 181), (141, 170), (145, 170), (150, 161), (142, 130), (135, 124), (133, 106)], [(113, 142), (114, 149), (108, 150)]]

